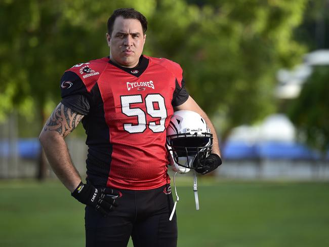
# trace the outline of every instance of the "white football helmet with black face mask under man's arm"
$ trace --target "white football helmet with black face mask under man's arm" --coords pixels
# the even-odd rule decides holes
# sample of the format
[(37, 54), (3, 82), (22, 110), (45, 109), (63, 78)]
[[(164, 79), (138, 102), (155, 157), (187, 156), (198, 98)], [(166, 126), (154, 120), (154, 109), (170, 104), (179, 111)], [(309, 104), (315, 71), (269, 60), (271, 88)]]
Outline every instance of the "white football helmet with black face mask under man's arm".
[(213, 148), (213, 135), (196, 112), (175, 111), (167, 128), (169, 161), (175, 172), (201, 168)]

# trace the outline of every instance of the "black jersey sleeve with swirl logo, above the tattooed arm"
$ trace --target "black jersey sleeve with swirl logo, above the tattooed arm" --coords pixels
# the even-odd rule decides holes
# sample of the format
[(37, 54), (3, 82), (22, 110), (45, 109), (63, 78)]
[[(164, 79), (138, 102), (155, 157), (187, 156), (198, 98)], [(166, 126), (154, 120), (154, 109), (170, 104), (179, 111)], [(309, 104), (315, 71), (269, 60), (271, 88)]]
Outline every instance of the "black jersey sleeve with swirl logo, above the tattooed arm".
[(66, 71), (61, 78), (61, 103), (72, 110), (88, 115), (91, 97), (80, 77), (72, 71)]

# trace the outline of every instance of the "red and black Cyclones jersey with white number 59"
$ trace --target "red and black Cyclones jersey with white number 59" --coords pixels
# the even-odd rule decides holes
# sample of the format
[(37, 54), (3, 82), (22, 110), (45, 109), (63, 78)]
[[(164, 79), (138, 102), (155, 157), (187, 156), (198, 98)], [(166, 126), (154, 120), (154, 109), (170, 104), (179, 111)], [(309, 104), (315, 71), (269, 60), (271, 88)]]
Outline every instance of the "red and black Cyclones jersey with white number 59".
[(125, 68), (105, 57), (65, 71), (61, 93), (85, 115), (88, 183), (145, 190), (170, 182), (166, 128), (188, 98), (179, 64), (141, 56)]

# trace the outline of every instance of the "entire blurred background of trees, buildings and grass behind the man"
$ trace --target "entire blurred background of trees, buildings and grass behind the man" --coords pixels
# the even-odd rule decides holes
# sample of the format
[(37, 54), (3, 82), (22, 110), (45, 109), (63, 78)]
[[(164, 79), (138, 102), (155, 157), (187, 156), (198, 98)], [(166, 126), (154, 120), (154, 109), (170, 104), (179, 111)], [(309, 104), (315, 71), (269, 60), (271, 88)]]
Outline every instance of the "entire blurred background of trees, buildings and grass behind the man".
[[(328, 0), (0, 0), (0, 245), (84, 245), (83, 205), (37, 137), (63, 72), (108, 56), (107, 19), (127, 7), (148, 19), (143, 54), (181, 64), (220, 138), (200, 212), (179, 178), (179, 246), (328, 245)], [(85, 139), (66, 139), (83, 176)]]

